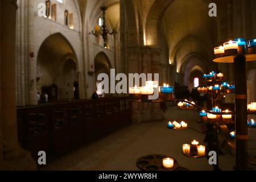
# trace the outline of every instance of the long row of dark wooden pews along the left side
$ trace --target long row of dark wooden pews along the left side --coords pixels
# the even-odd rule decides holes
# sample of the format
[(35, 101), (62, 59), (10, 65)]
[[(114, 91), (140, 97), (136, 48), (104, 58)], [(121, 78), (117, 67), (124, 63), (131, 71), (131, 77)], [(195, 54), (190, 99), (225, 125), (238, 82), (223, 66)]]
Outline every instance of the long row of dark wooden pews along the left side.
[(131, 123), (128, 98), (102, 98), (17, 109), (18, 139), (34, 159), (49, 159), (100, 139)]

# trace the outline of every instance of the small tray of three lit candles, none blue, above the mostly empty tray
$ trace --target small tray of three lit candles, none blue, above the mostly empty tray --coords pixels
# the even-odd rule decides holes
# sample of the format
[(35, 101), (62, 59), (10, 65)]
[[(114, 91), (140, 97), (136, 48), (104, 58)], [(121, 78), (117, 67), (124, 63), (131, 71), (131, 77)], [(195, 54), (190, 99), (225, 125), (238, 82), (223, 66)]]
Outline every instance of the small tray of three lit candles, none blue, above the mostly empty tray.
[(188, 158), (205, 158), (207, 152), (205, 146), (199, 145), (199, 142), (193, 140), (191, 144), (183, 144), (182, 154)]

